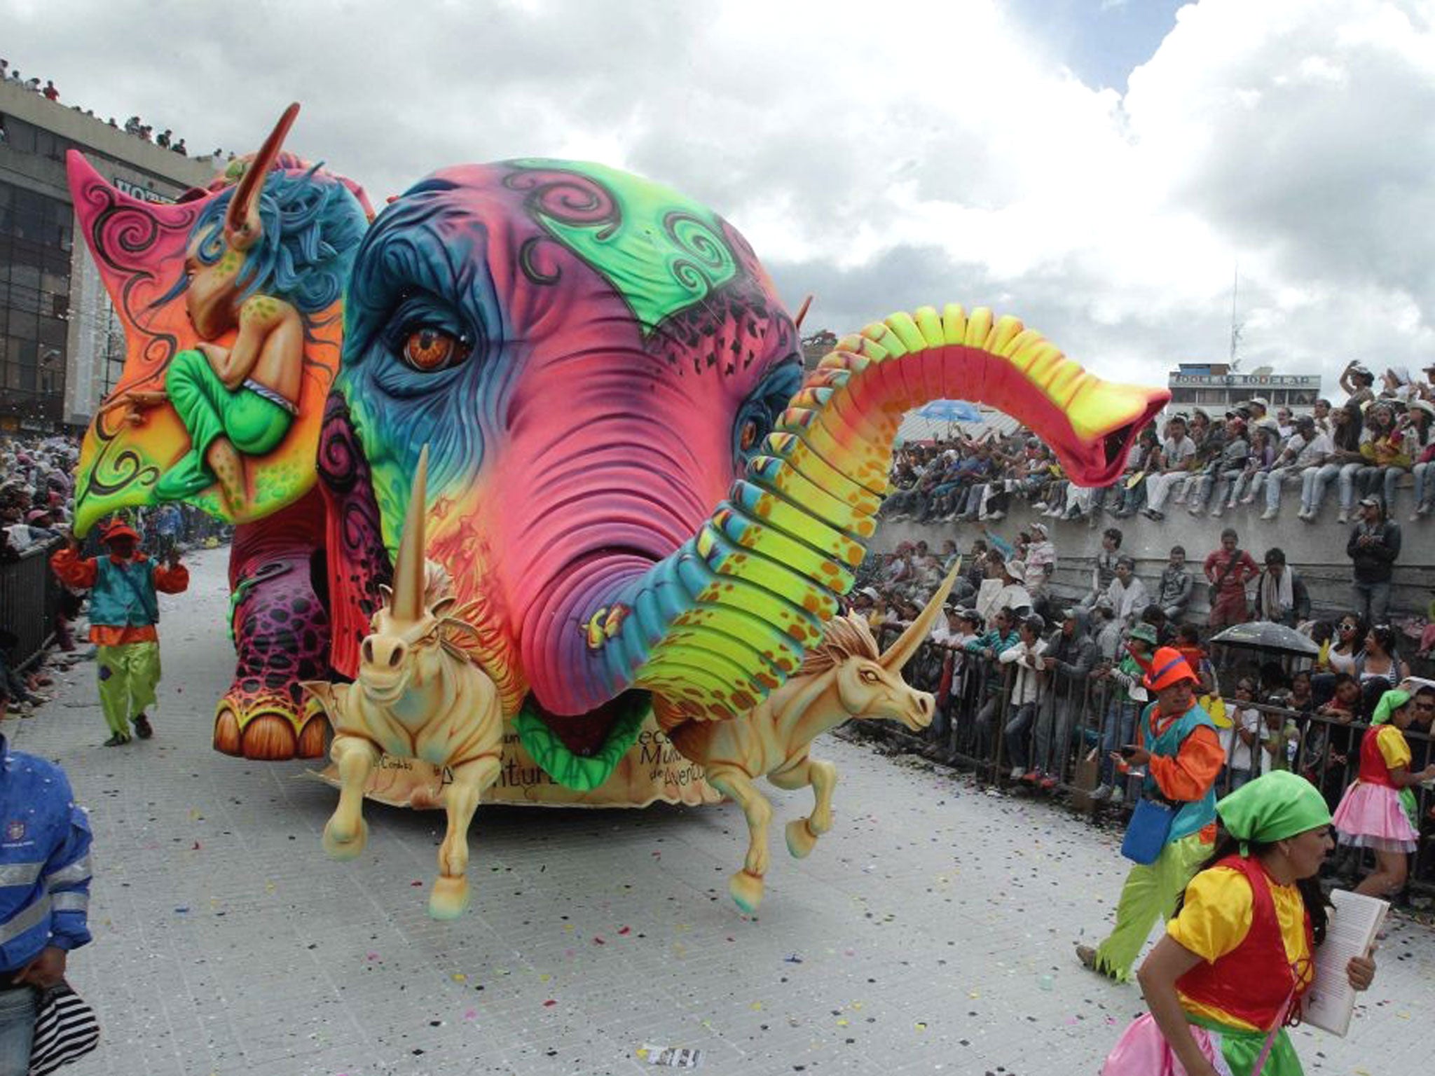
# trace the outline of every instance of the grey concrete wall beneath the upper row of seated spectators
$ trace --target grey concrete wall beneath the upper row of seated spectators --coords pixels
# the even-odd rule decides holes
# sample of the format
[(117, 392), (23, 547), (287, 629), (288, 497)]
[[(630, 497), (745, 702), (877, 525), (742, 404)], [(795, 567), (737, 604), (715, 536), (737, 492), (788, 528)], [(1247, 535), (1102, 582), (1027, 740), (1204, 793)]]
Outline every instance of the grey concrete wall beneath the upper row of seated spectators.
[[(1340, 615), (1350, 608), (1350, 558), (1346, 557), (1346, 541), (1350, 527), (1336, 524), (1335, 491), (1329, 491), (1327, 504), (1313, 524), (1296, 518), (1299, 489), (1286, 491), (1281, 501), (1281, 515), (1263, 521), (1263, 504), (1250, 508), (1236, 508), (1220, 519), (1191, 516), (1178, 505), (1167, 505), (1167, 518), (1152, 522), (1137, 515), (1129, 519), (1115, 519), (1102, 515), (1095, 527), (1086, 522), (1065, 522), (1048, 519), (1033, 512), (1025, 501), (1013, 499), (1012, 512), (994, 524), (936, 524), (918, 527), (913, 522), (884, 522), (874, 538), (874, 548), (890, 552), (901, 541), (924, 538), (933, 549), (938, 549), (947, 538), (954, 538), (957, 548), (966, 552), (973, 538), (980, 538), (990, 529), (1009, 542), (1027, 522), (1043, 522), (1056, 544), (1055, 590), (1058, 594), (1085, 593), (1091, 585), (1092, 558), (1101, 548), (1101, 532), (1108, 527), (1119, 527), (1122, 552), (1137, 560), (1137, 574), (1154, 591), (1165, 567), (1172, 545), (1185, 547), (1187, 561), (1194, 565), (1197, 594), (1192, 598), (1190, 615), (1204, 620), (1208, 607), (1205, 588), (1200, 585), (1200, 565), (1205, 555), (1220, 545), (1220, 534), (1225, 527), (1234, 527), (1240, 544), (1257, 562), (1273, 545), (1286, 551), (1287, 562), (1306, 580), (1310, 588), (1310, 603), (1316, 615)], [(1391, 597), (1392, 618), (1406, 614), (1422, 615), (1435, 593), (1435, 516), (1419, 522), (1405, 522), (1411, 514), (1409, 489), (1402, 489), (1396, 498), (1395, 519), (1401, 522), (1401, 558), (1395, 567), (1395, 588)]]

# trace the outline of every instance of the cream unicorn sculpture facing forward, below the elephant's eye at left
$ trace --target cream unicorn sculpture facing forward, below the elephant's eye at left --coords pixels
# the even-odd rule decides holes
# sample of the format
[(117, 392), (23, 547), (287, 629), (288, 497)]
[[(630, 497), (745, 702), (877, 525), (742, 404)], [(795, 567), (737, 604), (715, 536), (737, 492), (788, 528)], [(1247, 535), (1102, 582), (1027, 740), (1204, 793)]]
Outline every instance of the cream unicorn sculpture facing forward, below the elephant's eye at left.
[(330, 758), (339, 769), (339, 806), (324, 826), (333, 859), (363, 852), (369, 825), (363, 791), (382, 752), (446, 766), (453, 779), (442, 792), (448, 831), (439, 845), (439, 877), (429, 914), (452, 920), (469, 901), (468, 825), (478, 799), (498, 779), (502, 713), (498, 689), (476, 664), (478, 633), (469, 611), (455, 610), (452, 581), (423, 560), (428, 448), (403, 522), (393, 590), (373, 614), (373, 633), (360, 647), (354, 684), (306, 681), (334, 726)]

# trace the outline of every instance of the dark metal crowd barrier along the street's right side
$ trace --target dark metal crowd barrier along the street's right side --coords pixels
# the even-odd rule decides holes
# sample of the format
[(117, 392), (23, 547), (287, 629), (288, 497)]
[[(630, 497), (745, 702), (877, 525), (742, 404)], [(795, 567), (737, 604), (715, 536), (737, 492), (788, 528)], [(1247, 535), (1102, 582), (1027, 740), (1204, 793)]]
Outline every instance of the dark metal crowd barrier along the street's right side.
[[(895, 628), (878, 633), (885, 647), (895, 638)], [(1096, 819), (1124, 823), (1139, 785), (1122, 776), (1108, 752), (1135, 742), (1135, 722), (1144, 703), (1125, 706), (1112, 680), (1069, 679), (1048, 673), (1040, 679), (1030, 714), (1020, 714), (1012, 704), (1015, 667), (1000, 666), (979, 654), (957, 654), (949, 647), (926, 643), (905, 669), (908, 683), (937, 697), (931, 725), (913, 733), (895, 722), (854, 722), (855, 729), (890, 743), (897, 743), (928, 758), (971, 772), (982, 783), (1003, 783), (1048, 792), (1066, 799), (1073, 809)], [(1251, 747), (1253, 776), (1264, 768), (1293, 769), (1320, 789), (1332, 811), (1359, 769), (1360, 736), (1370, 726), (1362, 720), (1292, 710), (1280, 706), (1223, 699), (1233, 726), (1220, 730), (1227, 749), (1227, 766), (1217, 780), (1217, 796), (1231, 792), (1243, 773), (1233, 762), (1244, 762), (1244, 743), (1237, 729), (1240, 710), (1256, 710), (1267, 726), (1274, 750), (1257, 743)], [(1019, 720), (1020, 719), (1020, 720)], [(1015, 730), (1012, 736), (1004, 735)], [(1063, 735), (1065, 730), (1065, 735)], [(1038, 733), (1042, 737), (1038, 739)], [(1413, 759), (1412, 769), (1435, 760), (1435, 739), (1429, 732), (1411, 727), (1405, 732)], [(1046, 782), (1013, 780), (1010, 746), (1025, 749), (1023, 776), (1042, 769)], [(1039, 755), (1046, 747), (1046, 755)], [(1019, 759), (1020, 760), (1020, 759)], [(1122, 788), (1119, 802), (1093, 801), (1091, 792), (1102, 782)], [(1419, 848), (1411, 869), (1411, 889), (1435, 894), (1435, 792), (1416, 786)], [(1337, 867), (1360, 868), (1360, 855), (1339, 852)]]

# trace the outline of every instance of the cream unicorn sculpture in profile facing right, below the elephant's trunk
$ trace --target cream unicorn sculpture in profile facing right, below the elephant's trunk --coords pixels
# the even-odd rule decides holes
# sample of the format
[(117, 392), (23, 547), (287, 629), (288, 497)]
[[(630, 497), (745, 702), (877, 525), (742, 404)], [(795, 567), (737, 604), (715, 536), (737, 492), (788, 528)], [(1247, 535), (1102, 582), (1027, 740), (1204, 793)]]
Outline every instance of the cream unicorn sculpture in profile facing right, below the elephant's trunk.
[(887, 653), (878, 653), (865, 620), (834, 617), (796, 674), (746, 714), (726, 722), (683, 720), (659, 706), (659, 725), (673, 746), (700, 765), (707, 783), (736, 801), (748, 819), (748, 858), (728, 885), (743, 911), (756, 911), (762, 902), (768, 872), (772, 805), (756, 780), (766, 778), (781, 789), (812, 786), (812, 813), (786, 828), (788, 851), (799, 859), (808, 855), (832, 828), (837, 785), (837, 766), (809, 758), (812, 740), (850, 717), (884, 717), (913, 730), (931, 725), (933, 697), (908, 687), (901, 670), (927, 638), (960, 570), (959, 562)]

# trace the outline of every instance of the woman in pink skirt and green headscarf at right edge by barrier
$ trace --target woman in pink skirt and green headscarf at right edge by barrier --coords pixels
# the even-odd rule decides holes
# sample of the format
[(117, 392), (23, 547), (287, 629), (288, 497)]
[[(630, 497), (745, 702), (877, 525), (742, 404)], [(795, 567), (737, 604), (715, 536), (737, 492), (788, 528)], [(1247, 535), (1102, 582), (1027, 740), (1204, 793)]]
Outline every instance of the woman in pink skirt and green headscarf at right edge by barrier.
[(1411, 773), (1411, 745), (1405, 730), (1415, 712), (1409, 692), (1386, 692), (1360, 740), (1360, 769), (1336, 808), (1340, 844), (1375, 852), (1375, 869), (1355, 891), (1368, 897), (1399, 892), (1405, 885), (1406, 856), (1415, 851), (1419, 831), (1411, 822), (1401, 795), (1435, 778), (1435, 765)]

